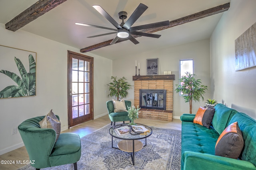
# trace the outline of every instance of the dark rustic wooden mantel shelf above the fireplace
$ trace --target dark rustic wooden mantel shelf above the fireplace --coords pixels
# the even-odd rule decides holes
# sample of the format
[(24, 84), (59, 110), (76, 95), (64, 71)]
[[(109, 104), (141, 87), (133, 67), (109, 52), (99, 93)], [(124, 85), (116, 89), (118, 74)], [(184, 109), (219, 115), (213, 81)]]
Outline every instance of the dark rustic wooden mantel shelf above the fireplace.
[(150, 76), (132, 76), (132, 80), (175, 80), (175, 74), (169, 75), (150, 75)]

